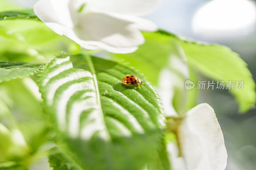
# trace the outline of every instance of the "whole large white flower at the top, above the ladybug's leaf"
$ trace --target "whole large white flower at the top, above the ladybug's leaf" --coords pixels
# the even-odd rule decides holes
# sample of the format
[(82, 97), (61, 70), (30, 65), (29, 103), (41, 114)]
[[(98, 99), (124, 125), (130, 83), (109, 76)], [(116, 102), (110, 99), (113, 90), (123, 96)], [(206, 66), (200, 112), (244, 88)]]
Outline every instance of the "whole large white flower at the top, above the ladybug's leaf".
[(138, 16), (152, 11), (159, 0), (40, 0), (34, 11), (55, 33), (86, 49), (131, 53), (144, 43), (140, 31), (157, 26)]

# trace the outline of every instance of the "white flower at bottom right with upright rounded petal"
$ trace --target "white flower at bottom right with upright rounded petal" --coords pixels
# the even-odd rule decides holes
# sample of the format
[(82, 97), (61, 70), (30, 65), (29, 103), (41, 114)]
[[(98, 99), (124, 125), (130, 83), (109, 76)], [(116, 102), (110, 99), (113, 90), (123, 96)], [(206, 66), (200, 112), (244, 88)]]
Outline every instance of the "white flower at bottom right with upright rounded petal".
[(174, 170), (224, 170), (227, 150), (214, 110), (206, 103), (187, 112), (176, 130), (177, 145), (167, 144)]

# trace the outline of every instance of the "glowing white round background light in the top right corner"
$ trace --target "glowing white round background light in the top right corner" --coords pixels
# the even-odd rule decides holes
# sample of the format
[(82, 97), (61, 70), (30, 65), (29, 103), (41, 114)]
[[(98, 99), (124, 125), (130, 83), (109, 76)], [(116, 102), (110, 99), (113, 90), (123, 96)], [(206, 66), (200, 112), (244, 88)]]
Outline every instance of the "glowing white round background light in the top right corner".
[[(203, 5), (194, 15), (192, 30), (231, 31), (250, 27), (246, 32), (255, 30), (256, 7), (249, 0), (213, 0)], [(242, 31), (242, 33), (245, 33)]]

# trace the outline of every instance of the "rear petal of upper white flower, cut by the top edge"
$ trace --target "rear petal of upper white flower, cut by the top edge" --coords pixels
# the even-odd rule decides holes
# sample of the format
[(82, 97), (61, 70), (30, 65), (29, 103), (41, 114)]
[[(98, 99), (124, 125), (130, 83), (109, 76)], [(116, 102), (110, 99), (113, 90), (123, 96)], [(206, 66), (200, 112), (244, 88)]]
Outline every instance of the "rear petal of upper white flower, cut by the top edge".
[(159, 0), (89, 0), (88, 4), (102, 12), (143, 16), (153, 11)]

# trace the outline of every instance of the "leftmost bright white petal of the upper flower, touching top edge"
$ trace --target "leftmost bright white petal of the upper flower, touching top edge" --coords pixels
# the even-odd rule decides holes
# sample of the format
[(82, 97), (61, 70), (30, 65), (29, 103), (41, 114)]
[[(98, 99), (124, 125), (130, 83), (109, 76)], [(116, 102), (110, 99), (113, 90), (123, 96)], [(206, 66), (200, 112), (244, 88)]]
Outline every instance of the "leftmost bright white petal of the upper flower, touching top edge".
[(68, 9), (69, 0), (40, 0), (34, 6), (35, 14), (44, 23), (58, 23), (72, 27)]

